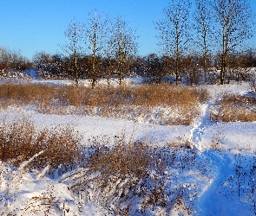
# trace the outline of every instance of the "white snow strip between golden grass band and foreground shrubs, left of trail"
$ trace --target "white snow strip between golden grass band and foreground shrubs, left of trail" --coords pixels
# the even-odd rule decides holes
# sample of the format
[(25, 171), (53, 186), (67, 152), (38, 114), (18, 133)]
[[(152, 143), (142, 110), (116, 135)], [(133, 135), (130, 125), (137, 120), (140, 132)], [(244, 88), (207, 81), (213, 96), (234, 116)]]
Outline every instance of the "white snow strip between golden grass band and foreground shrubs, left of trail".
[(134, 137), (135, 140), (145, 140), (149, 143), (165, 145), (170, 142), (181, 140), (182, 137), (188, 137), (190, 126), (163, 126), (159, 124), (135, 123), (124, 119), (101, 118), (90, 116), (59, 116), (35, 113), (34, 111), (3, 111), (0, 112), (0, 119), (13, 119), (18, 115), (30, 118), (38, 127), (56, 126), (71, 124), (75, 126), (82, 134), (84, 142), (92, 137), (112, 137), (120, 136), (125, 133), (126, 136)]

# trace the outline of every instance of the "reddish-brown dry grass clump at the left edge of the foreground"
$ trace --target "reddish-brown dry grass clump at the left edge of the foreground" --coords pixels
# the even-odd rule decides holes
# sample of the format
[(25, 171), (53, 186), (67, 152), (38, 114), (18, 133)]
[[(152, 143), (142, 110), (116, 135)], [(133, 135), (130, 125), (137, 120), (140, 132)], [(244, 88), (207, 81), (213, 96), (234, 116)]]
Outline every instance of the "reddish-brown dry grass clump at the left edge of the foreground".
[(39, 131), (28, 118), (3, 119), (0, 123), (0, 160), (18, 166), (41, 152), (30, 163), (31, 167), (69, 166), (81, 156), (80, 140), (71, 126)]

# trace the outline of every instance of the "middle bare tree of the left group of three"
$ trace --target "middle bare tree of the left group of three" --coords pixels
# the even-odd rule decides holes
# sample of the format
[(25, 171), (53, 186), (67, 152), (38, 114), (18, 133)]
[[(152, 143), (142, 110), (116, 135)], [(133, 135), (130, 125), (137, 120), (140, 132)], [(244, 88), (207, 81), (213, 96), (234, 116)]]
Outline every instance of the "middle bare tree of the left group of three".
[(107, 16), (89, 14), (88, 22), (83, 26), (85, 47), (89, 51), (89, 78), (92, 79), (92, 88), (94, 88), (96, 79), (99, 77), (100, 57), (104, 52), (108, 35)]

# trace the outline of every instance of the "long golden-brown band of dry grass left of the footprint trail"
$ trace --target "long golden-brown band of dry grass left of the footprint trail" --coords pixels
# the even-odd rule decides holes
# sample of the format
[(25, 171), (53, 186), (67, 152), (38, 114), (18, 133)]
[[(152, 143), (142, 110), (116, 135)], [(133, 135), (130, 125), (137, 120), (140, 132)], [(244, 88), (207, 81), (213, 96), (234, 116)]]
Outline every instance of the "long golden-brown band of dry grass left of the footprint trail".
[(85, 86), (0, 85), (0, 105), (5, 108), (33, 105), (36, 111), (43, 113), (75, 112), (132, 120), (154, 116), (148, 121), (158, 124), (192, 124), (204, 100), (207, 100), (206, 91), (188, 86), (97, 86), (91, 89)]

